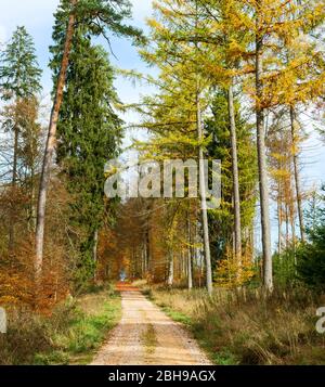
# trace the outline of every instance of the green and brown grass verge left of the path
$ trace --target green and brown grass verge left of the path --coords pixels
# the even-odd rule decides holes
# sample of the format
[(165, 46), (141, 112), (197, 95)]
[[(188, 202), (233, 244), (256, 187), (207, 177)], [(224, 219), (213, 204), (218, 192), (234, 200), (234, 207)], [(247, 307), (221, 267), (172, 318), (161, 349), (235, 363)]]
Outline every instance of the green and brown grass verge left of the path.
[(0, 363), (88, 364), (120, 314), (112, 287), (61, 305), (51, 317), (16, 313), (0, 336)]

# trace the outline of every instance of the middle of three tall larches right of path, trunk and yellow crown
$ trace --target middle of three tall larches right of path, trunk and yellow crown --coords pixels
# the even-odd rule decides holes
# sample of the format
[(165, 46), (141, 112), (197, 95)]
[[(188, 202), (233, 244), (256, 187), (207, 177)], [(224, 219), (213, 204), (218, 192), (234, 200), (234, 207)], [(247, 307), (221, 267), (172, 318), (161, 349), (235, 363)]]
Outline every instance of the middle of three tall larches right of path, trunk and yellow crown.
[[(247, 50), (250, 36), (243, 21), (244, 5), (240, 1), (206, 1), (193, 0), (200, 15), (200, 28), (194, 38), (200, 42), (202, 72), (210, 80), (212, 88), (225, 90), (230, 122), (230, 142), (233, 179), (234, 212), (234, 256), (242, 265), (242, 215), (238, 177), (237, 129), (235, 120), (234, 93), (237, 92), (243, 69), (243, 53)], [(193, 39), (193, 37), (190, 39)]]

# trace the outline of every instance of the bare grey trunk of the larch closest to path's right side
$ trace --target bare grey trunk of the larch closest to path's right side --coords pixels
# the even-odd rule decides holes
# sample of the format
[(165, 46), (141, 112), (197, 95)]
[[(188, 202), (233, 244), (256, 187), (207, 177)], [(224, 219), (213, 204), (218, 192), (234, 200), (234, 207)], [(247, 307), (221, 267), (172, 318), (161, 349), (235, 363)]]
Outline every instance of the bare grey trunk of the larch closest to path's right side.
[[(202, 112), (200, 112), (200, 101), (199, 92), (197, 88), (196, 92), (196, 126), (197, 126), (197, 137), (198, 141), (204, 139), (203, 133), (203, 122), (202, 122)], [(204, 236), (204, 247), (205, 247), (205, 261), (206, 261), (206, 286), (208, 294), (212, 294), (212, 269), (211, 269), (211, 254), (210, 254), (210, 241), (209, 241), (209, 223), (208, 223), (208, 209), (207, 209), (207, 193), (206, 193), (206, 179), (205, 179), (205, 164), (204, 164), (204, 151), (203, 146), (199, 146), (198, 151), (198, 162), (199, 162), (199, 194), (200, 194), (200, 205), (202, 205), (202, 222), (203, 222), (203, 236)]]

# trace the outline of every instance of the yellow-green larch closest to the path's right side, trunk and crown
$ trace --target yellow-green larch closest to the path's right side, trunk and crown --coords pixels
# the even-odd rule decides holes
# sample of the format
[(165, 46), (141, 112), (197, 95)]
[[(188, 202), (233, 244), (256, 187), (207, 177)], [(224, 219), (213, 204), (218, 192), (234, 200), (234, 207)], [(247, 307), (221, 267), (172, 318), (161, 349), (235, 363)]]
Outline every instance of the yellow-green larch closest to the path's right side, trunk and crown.
[[(156, 125), (162, 119), (171, 120), (165, 136), (176, 137), (182, 144), (196, 149), (194, 157), (199, 165), (199, 197), (202, 203), (202, 231), (206, 262), (206, 285), (208, 293), (212, 293), (211, 255), (209, 243), (208, 205), (204, 180), (204, 157), (206, 138), (204, 133), (204, 115), (207, 109), (207, 81), (199, 73), (199, 47), (195, 40), (199, 21), (197, 8), (188, 9), (184, 2), (159, 1), (155, 3), (158, 11), (157, 18), (151, 20), (151, 41), (153, 46), (142, 51), (143, 57), (155, 64), (161, 70), (160, 82), (162, 95), (168, 99), (164, 104), (173, 106), (167, 114), (158, 117)], [(179, 14), (186, 17), (179, 17)], [(188, 38), (188, 35), (193, 39)], [(178, 100), (178, 106), (174, 101)], [(181, 105), (182, 102), (182, 105)], [(182, 112), (183, 111), (183, 112)], [(155, 115), (155, 113), (154, 113)], [(173, 115), (173, 117), (172, 117)], [(181, 118), (182, 117), (182, 118)], [(172, 124), (174, 122), (174, 125)], [(154, 124), (154, 127), (155, 127)], [(190, 125), (188, 125), (190, 124)], [(195, 126), (193, 127), (193, 125)], [(158, 124), (159, 125), (159, 124)], [(164, 124), (162, 124), (164, 127)], [(183, 127), (183, 128), (182, 128)], [(187, 128), (187, 129), (185, 129)], [(162, 140), (167, 142), (167, 139)]]

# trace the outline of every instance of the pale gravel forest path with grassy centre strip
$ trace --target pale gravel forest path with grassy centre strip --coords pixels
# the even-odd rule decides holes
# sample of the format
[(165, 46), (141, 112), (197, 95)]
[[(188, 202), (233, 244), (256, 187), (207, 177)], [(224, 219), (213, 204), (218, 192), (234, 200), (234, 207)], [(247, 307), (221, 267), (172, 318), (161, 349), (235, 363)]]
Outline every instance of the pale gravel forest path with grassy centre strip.
[(92, 365), (208, 365), (195, 340), (141, 292), (118, 285), (122, 318)]

